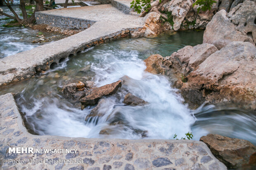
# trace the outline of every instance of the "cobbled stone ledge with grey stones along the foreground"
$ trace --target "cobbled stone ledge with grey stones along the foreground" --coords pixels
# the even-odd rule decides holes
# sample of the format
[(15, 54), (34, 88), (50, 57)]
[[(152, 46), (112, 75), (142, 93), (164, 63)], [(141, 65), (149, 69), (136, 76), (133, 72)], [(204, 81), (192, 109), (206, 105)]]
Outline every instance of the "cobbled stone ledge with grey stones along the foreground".
[[(11, 93), (0, 95), (0, 167), (1, 169), (210, 169), (225, 170), (203, 142), (193, 140), (88, 139), (61, 136), (37, 136), (23, 125)], [(76, 154), (9, 154), (9, 147), (34, 149), (78, 149)], [(82, 160), (78, 164), (11, 164), (10, 159)]]

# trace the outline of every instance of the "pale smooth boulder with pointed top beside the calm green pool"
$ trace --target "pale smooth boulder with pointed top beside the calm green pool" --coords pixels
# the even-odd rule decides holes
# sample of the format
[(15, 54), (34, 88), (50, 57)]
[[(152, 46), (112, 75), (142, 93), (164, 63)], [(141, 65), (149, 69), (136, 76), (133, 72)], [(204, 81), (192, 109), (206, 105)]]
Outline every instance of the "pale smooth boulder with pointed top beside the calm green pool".
[(220, 10), (213, 16), (211, 22), (207, 24), (203, 43), (214, 44), (218, 49), (221, 49), (233, 41), (251, 42), (254, 44), (253, 40), (245, 33), (236, 30), (235, 24), (228, 18), (227, 12)]

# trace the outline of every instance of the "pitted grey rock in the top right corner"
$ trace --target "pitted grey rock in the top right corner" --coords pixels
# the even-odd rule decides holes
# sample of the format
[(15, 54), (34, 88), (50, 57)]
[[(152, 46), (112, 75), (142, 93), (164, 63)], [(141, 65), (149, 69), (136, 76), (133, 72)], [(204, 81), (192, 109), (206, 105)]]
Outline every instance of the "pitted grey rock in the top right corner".
[(256, 44), (256, 1), (246, 0), (233, 8), (228, 16), (241, 33), (247, 34)]

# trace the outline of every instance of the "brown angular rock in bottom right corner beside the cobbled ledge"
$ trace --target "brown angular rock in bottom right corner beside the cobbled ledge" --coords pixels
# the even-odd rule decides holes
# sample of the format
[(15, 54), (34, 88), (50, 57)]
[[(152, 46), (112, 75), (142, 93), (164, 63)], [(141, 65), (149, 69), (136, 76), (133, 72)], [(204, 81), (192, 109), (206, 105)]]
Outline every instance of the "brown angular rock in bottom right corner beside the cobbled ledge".
[(249, 164), (250, 156), (256, 152), (256, 147), (251, 142), (237, 138), (209, 134), (202, 136), (200, 141), (206, 143), (213, 155), (228, 169)]

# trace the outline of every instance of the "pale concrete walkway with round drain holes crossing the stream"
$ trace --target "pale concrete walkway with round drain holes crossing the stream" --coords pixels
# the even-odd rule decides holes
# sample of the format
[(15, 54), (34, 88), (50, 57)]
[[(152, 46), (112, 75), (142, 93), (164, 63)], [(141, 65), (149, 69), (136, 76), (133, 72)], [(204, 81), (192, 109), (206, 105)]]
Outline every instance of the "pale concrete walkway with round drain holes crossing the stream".
[(38, 23), (87, 29), (71, 37), (0, 59), (0, 86), (30, 78), (36, 72), (49, 69), (52, 63), (59, 63), (60, 58), (95, 44), (127, 36), (140, 30), (143, 25), (143, 18), (127, 15), (110, 4), (37, 12), (36, 18)]

